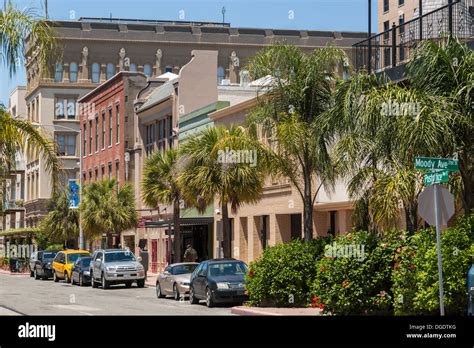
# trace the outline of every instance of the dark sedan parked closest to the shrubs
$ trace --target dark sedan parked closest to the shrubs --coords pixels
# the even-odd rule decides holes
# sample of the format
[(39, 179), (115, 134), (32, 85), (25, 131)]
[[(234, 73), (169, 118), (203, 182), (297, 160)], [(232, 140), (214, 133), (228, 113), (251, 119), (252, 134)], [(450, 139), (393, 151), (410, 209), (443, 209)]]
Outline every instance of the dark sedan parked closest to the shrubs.
[(196, 304), (206, 300), (208, 307), (216, 303), (242, 303), (248, 299), (245, 293), (247, 265), (235, 259), (203, 261), (191, 275), (189, 302)]

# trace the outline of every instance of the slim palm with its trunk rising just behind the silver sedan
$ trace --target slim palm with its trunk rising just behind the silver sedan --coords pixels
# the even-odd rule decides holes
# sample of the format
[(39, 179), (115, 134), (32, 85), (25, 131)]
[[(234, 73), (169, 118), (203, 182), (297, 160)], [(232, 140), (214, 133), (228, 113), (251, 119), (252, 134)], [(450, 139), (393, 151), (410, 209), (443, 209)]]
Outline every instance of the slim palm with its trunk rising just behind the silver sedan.
[(174, 255), (175, 261), (181, 262), (181, 233), (179, 217), (180, 201), (183, 199), (178, 185), (178, 151), (169, 149), (165, 152), (155, 151), (146, 160), (143, 168), (142, 199), (149, 207), (159, 204), (173, 206), (174, 220)]

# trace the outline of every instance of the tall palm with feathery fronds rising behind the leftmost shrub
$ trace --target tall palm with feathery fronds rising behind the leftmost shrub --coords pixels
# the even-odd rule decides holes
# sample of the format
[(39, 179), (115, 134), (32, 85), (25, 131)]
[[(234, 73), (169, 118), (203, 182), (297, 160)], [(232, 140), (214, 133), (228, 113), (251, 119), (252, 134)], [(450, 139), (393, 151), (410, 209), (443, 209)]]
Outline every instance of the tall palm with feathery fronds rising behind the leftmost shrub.
[(272, 77), (270, 88), (252, 112), (249, 124), (263, 129), (269, 142), (270, 168), (287, 177), (303, 201), (304, 240), (313, 238), (313, 208), (325, 186), (331, 190), (336, 170), (330, 157), (330, 133), (321, 115), (332, 105), (336, 69), (346, 65), (344, 51), (275, 45), (250, 60), (252, 78)]

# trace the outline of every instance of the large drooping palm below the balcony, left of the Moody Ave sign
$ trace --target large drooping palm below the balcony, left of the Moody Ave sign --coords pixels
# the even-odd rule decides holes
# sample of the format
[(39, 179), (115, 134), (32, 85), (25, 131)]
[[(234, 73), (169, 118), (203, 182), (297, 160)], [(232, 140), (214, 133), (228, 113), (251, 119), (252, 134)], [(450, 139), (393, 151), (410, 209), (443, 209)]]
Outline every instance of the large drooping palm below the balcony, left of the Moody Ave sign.
[(366, 200), (371, 230), (396, 226), (402, 204), (413, 233), (422, 189), (415, 157), (454, 151), (452, 124), (458, 112), (442, 96), (364, 73), (341, 82), (336, 101), (325, 117), (332, 124), (335, 158), (344, 168), (350, 196)]

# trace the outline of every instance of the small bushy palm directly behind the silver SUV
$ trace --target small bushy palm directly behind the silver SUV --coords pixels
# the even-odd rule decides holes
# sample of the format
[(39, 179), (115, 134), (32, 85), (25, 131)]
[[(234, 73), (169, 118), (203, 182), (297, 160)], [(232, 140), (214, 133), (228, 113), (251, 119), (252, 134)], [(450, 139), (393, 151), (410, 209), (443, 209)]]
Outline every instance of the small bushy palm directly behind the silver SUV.
[(112, 234), (133, 228), (138, 222), (133, 187), (119, 186), (115, 179), (85, 186), (80, 210), (86, 237), (96, 239), (105, 233), (108, 248), (112, 247)]

